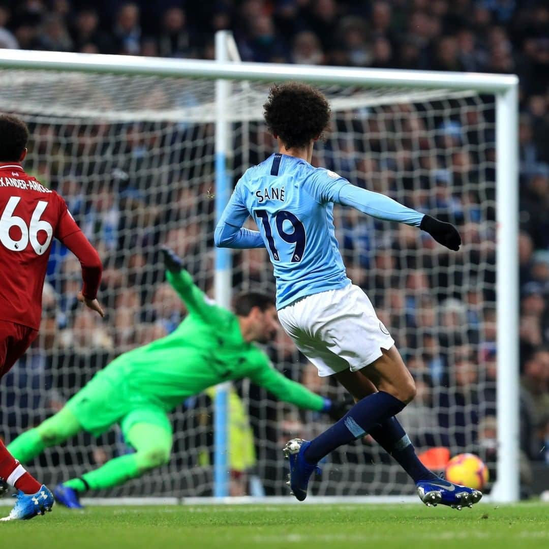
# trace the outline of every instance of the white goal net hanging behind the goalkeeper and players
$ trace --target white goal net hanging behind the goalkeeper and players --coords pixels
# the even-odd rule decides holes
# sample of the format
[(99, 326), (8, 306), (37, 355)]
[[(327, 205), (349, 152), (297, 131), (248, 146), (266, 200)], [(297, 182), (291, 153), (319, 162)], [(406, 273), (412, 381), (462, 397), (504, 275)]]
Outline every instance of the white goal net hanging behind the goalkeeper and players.
[[(335, 207), (348, 274), (372, 300), (416, 379), (400, 414), (418, 452), (495, 457), (495, 103), (445, 89), (321, 86), (332, 105), (326, 141), (312, 164), (358, 186), (454, 223), (463, 246), (450, 253), (427, 234)], [(58, 411), (124, 351), (169, 334), (185, 309), (165, 282), (159, 246), (184, 258), (212, 295), (215, 227), (215, 86), (210, 80), (84, 72), (2, 70), (0, 110), (31, 132), (27, 172), (56, 189), (104, 262), (100, 321), (75, 295), (80, 267), (54, 244), (40, 337), (0, 384), (0, 435), (7, 441)], [(229, 172), (233, 183), (270, 155), (262, 121), (268, 86), (231, 82)], [(274, 294), (264, 249), (233, 253), (232, 291)], [(319, 394), (344, 391), (279, 333), (273, 365)], [(184, 358), (183, 358), (184, 360)], [(282, 446), (328, 427), (318, 413), (273, 400), (247, 380), (234, 384), (229, 465), (233, 494), (285, 495)], [(212, 395), (171, 414), (169, 465), (108, 495), (212, 494)], [(248, 427), (249, 425), (249, 427)], [(114, 427), (82, 433), (31, 464), (54, 484), (130, 452)], [(428, 458), (433, 460), (432, 452)], [(435, 459), (436, 461), (436, 459)], [(368, 437), (324, 463), (318, 495), (401, 495), (414, 486)]]

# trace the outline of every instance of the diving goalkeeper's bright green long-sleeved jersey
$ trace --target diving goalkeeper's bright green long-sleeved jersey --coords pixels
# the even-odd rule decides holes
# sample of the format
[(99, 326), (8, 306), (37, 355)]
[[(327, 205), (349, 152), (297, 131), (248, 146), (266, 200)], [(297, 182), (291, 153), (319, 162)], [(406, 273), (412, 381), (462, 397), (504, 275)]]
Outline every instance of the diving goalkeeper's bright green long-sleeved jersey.
[(211, 301), (187, 271), (167, 277), (188, 315), (173, 333), (120, 355), (100, 374), (113, 383), (124, 378), (121, 400), (168, 412), (212, 385), (248, 377), (280, 400), (322, 410), (324, 399), (276, 371), (265, 352), (244, 341), (237, 316)]

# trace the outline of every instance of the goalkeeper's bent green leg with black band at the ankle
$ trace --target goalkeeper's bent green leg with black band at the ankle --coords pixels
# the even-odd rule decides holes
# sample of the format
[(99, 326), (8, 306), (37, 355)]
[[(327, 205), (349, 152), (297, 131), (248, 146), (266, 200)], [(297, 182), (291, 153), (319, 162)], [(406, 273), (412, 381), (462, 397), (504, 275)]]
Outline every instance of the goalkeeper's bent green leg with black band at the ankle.
[[(140, 417), (133, 417), (136, 414)], [(133, 422), (132, 419), (138, 419), (138, 422)], [(131, 425), (125, 427), (128, 425), (128, 420)], [(78, 494), (87, 490), (111, 488), (124, 484), (127, 480), (141, 477), (147, 471), (161, 467), (170, 461), (173, 435), (169, 419), (164, 412), (150, 410), (131, 412), (122, 422), (122, 432), (126, 442), (135, 449), (135, 453), (116, 457), (102, 467), (83, 474), (80, 478), (66, 481), (58, 488), (68, 488)], [(55, 491), (57, 496), (58, 489)]]

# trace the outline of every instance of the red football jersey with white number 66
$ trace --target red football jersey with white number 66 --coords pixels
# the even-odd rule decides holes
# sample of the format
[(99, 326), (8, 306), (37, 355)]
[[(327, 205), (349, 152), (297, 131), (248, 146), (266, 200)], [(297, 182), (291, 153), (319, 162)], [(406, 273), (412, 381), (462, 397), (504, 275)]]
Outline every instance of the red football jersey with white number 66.
[(52, 239), (79, 230), (55, 191), (19, 164), (0, 164), (0, 320), (40, 328)]

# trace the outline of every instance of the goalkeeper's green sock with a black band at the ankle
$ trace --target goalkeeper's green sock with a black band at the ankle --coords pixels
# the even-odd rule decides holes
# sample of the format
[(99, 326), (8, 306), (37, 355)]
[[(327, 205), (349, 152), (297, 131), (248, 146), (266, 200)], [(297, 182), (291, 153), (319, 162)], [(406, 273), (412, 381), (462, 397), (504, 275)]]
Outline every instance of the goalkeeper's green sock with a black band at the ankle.
[(86, 490), (102, 490), (124, 484), (126, 480), (141, 476), (136, 453), (115, 457), (99, 469), (85, 473), (81, 478), (71, 479), (63, 483), (77, 492)]

